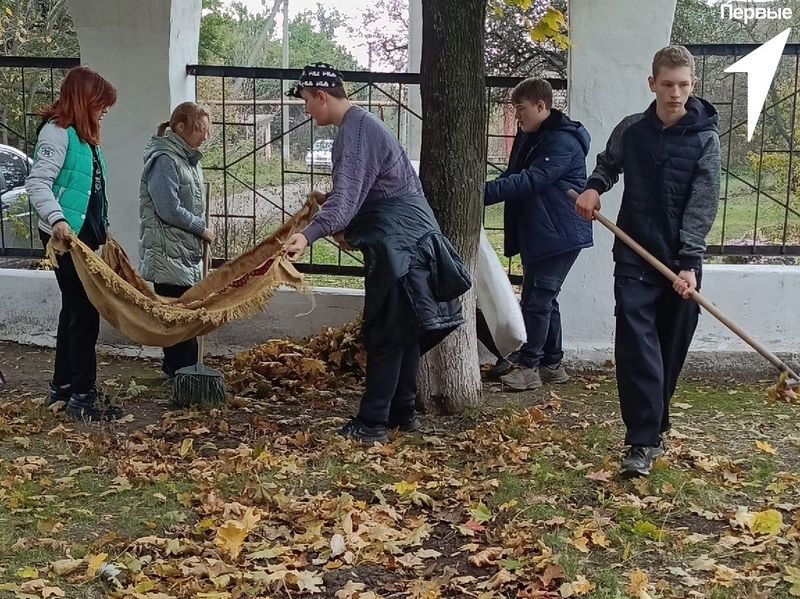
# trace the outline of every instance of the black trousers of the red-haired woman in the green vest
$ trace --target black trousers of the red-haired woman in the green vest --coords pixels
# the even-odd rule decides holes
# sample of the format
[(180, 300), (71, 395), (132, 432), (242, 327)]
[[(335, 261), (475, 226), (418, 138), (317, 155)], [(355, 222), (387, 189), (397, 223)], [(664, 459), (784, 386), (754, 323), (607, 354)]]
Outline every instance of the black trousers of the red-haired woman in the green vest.
[[(39, 231), (42, 245), (47, 247), (50, 235)], [(89, 301), (70, 254), (58, 256), (54, 269), (61, 290), (61, 312), (56, 334), (56, 360), (53, 385), (71, 385), (72, 393), (88, 393), (97, 381), (97, 336), (100, 314)]]

